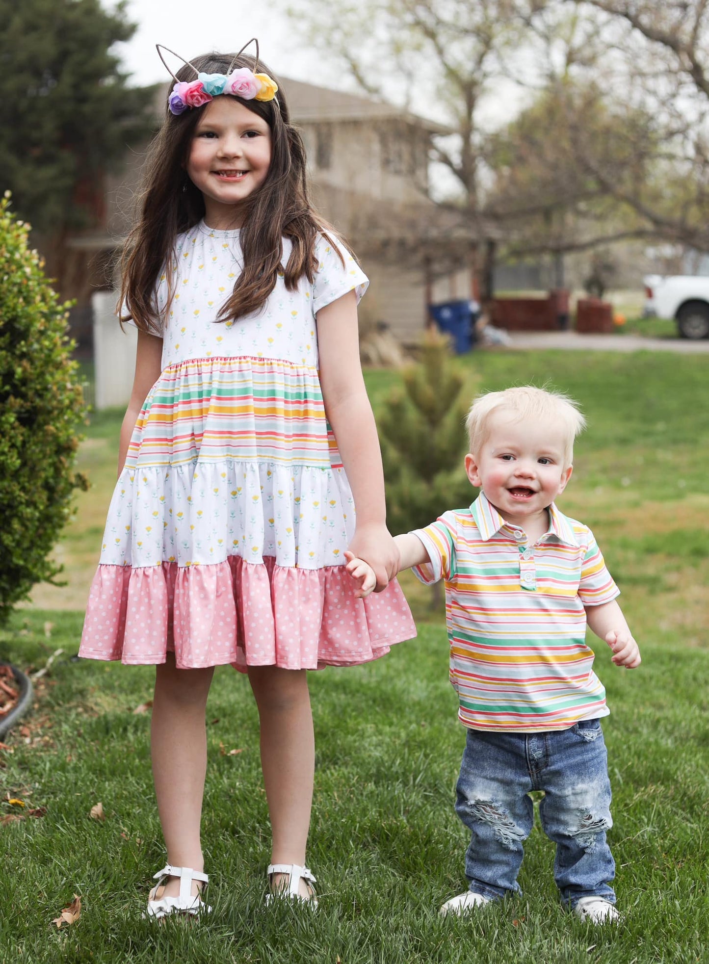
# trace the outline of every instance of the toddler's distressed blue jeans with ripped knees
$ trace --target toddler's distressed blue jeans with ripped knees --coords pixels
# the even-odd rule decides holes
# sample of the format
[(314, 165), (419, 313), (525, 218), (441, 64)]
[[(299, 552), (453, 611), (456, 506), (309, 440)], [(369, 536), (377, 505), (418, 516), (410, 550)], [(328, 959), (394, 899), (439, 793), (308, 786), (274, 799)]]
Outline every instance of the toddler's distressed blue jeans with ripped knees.
[(611, 784), (600, 720), (546, 733), (468, 730), (455, 811), (472, 834), (465, 858), (470, 889), (499, 899), (520, 893), (517, 874), (532, 830), (531, 790), (544, 790), (542, 828), (557, 844), (554, 878), (561, 900), (615, 902), (615, 864), (606, 843)]

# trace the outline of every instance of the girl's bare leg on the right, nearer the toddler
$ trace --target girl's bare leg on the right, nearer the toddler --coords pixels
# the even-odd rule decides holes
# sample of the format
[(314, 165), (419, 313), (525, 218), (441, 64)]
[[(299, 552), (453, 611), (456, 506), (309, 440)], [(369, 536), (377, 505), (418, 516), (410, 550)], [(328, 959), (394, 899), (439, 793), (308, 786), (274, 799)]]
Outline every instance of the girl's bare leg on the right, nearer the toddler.
[[(249, 681), (260, 718), (261, 766), (273, 834), (272, 864), (305, 864), (311, 824), (315, 746), (305, 670), (252, 666)], [(285, 885), (274, 874), (273, 886)], [(300, 893), (308, 897), (305, 881)]]

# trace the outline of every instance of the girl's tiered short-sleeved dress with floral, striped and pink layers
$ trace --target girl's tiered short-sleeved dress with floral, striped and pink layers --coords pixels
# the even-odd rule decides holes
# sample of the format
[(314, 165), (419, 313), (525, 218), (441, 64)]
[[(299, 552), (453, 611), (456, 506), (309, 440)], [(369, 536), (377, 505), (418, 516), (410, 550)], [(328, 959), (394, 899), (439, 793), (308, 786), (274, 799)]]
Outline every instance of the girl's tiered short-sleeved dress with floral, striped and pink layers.
[[(238, 230), (177, 238), (162, 374), (138, 418), (92, 584), (80, 655), (178, 667), (314, 669), (416, 635), (396, 582), (355, 599), (355, 512), (317, 373), (315, 314), (368, 280), (318, 239), (314, 284), (280, 276), (263, 310), (215, 323)], [(284, 263), (289, 254), (284, 241)], [(168, 300), (168, 279), (158, 306)]]

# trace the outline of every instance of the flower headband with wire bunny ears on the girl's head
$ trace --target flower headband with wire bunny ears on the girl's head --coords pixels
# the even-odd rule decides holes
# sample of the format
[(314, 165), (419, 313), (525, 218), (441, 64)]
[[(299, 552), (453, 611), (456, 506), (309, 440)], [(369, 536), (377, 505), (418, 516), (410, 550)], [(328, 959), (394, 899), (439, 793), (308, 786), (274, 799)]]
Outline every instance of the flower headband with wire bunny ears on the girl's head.
[[(254, 67), (258, 69), (259, 40), (253, 37), (234, 56), (227, 73), (203, 73), (194, 64), (190, 64), (184, 57), (176, 54), (174, 50), (170, 50), (169, 47), (165, 47), (161, 43), (156, 43), (157, 56), (175, 80), (175, 87), (168, 97), (170, 113), (181, 114), (191, 107), (202, 107), (203, 104), (213, 100), (218, 94), (231, 94), (233, 97), (241, 97), (242, 100), (273, 100), (278, 92), (278, 84), (267, 73), (256, 73), (249, 67), (237, 67), (232, 70), (238, 58), (251, 43), (256, 43), (256, 63)], [(187, 67), (192, 67), (197, 74), (197, 78), (189, 83), (177, 80), (173, 71), (165, 63), (165, 58), (160, 53), (161, 49), (167, 50), (169, 54), (177, 57)]]

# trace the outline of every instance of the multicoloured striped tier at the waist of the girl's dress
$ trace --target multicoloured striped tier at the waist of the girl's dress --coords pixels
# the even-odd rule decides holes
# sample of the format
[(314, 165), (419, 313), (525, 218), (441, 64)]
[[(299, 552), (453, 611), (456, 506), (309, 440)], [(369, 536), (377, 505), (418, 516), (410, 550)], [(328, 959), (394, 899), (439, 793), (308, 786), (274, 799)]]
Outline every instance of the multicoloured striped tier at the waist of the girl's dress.
[(138, 418), (126, 465), (179, 466), (198, 458), (341, 468), (317, 370), (244, 356), (167, 367)]

